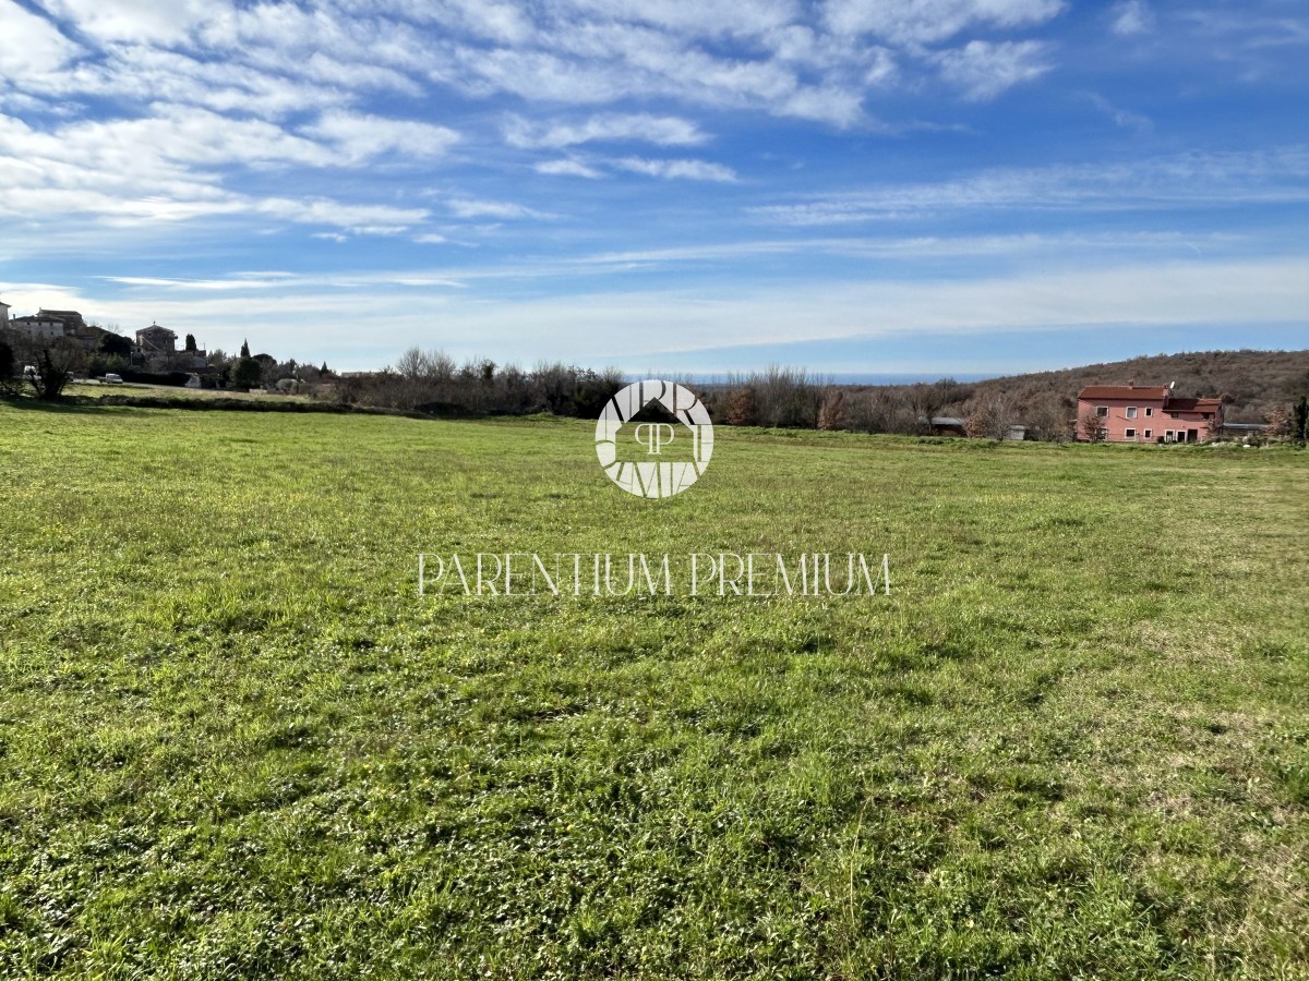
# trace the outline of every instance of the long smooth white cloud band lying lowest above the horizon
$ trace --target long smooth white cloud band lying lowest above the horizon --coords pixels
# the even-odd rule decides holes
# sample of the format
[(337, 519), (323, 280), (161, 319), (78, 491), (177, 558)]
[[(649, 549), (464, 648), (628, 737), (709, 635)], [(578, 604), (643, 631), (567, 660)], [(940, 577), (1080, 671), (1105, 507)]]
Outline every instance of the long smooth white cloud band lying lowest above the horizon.
[[(749, 366), (749, 345), (861, 337), (952, 336), (996, 330), (1066, 332), (1089, 327), (1143, 324), (1220, 324), (1247, 327), (1302, 319), (1309, 289), (1304, 256), (1223, 262), (1135, 262), (1103, 268), (1042, 267), (984, 279), (905, 279), (822, 281), (797, 286), (715, 286), (700, 290), (632, 290), (571, 293), (534, 301), (511, 301), (496, 292), (442, 289), (458, 286), (441, 273), (364, 273), (310, 277), (276, 289), (249, 290), (143, 289), (139, 297), (109, 300), (63, 296), (62, 306), (97, 319), (148, 323), (202, 334), (212, 344), (234, 347), (241, 332), (276, 323), (266, 341), (272, 349), (322, 352), (357, 368), (377, 368), (429, 336), (442, 324), (456, 357), (565, 358), (598, 364), (620, 357), (640, 369), (641, 358), (662, 352), (741, 347), (738, 364)], [(384, 289), (394, 284), (395, 289)], [(440, 292), (437, 292), (440, 289)], [(170, 296), (169, 293), (175, 293)], [(7, 292), (7, 297), (10, 294)], [(323, 351), (323, 318), (357, 296), (373, 314), (376, 331), (364, 356)], [(46, 294), (16, 292), (22, 309), (55, 306)], [(253, 301), (253, 302), (251, 302)], [(620, 337), (614, 323), (623, 323)], [(613, 337), (611, 351), (597, 349), (597, 337)], [(495, 339), (488, 349), (488, 339)], [(336, 349), (356, 343), (342, 336)], [(262, 345), (264, 341), (260, 343)], [(619, 349), (622, 345), (622, 349)], [(499, 356), (499, 357), (497, 357)], [(376, 360), (368, 360), (376, 358)], [(694, 368), (694, 358), (685, 362)]]

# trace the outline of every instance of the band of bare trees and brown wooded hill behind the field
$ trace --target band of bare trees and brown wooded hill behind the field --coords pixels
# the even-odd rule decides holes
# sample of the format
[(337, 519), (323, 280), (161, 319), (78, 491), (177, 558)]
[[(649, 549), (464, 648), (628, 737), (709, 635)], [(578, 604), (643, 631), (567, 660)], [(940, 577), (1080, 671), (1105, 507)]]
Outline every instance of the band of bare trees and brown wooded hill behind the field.
[[(16, 352), (0, 339), (0, 395), (25, 386), (38, 398), (58, 398), (72, 370), (120, 370), (128, 381), (164, 381), (128, 366), (127, 353), (106, 334), (102, 349), (92, 354), (55, 344)], [(186, 349), (194, 352), (194, 339)], [(30, 366), (18, 377), (18, 356)], [(428, 415), (526, 415), (596, 417), (626, 385), (614, 368), (600, 371), (562, 362), (541, 362), (530, 370), (490, 360), (458, 364), (441, 351), (414, 347), (394, 365), (373, 373), (336, 375), (327, 365), (314, 366), (271, 354), (251, 354), (249, 343), (237, 354), (212, 351), (212, 369), (204, 387), (247, 390), (278, 386), (313, 398), (355, 405), (416, 411)], [(181, 361), (179, 361), (181, 364)], [(762, 371), (729, 374), (704, 382), (679, 381), (691, 388), (720, 425), (792, 429), (851, 430), (925, 436), (942, 429), (966, 436), (1003, 439), (1012, 426), (1025, 428), (1030, 439), (1067, 441), (1079, 436), (1076, 392), (1083, 385), (1121, 383), (1136, 369), (1152, 381), (1179, 375), (1178, 394), (1221, 392), (1224, 404), (1249, 417), (1261, 407), (1258, 421), (1267, 434), (1297, 441), (1309, 438), (1309, 352), (1203, 352), (1136, 358), (1114, 365), (1090, 365), (1066, 371), (1043, 371), (982, 382), (941, 378), (912, 385), (836, 385), (830, 377), (802, 368), (770, 366)], [(1187, 370), (1189, 369), (1189, 370)], [(1262, 374), (1261, 374), (1262, 371)], [(188, 374), (174, 371), (165, 383), (182, 385)], [(1258, 381), (1253, 381), (1258, 379)], [(1299, 395), (1299, 402), (1296, 396)], [(1240, 409), (1244, 407), (1244, 412)], [(1233, 420), (1229, 415), (1228, 421)], [(1081, 434), (1086, 438), (1086, 434)], [(1094, 439), (1094, 437), (1090, 437)]]

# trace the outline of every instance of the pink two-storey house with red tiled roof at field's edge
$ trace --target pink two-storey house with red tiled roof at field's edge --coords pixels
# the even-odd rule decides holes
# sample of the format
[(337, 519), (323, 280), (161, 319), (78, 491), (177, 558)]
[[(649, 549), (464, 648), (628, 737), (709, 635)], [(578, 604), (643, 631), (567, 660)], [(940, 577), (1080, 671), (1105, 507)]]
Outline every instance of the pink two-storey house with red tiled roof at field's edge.
[(1111, 443), (1200, 442), (1223, 426), (1223, 400), (1178, 399), (1172, 385), (1089, 385), (1077, 392), (1077, 438), (1100, 426)]

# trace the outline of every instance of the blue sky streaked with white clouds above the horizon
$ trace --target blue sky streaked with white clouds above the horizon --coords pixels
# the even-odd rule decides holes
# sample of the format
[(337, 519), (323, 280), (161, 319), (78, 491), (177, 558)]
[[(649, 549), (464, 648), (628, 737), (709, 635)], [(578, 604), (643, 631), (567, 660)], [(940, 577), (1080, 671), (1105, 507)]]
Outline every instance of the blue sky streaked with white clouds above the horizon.
[(1309, 347), (1299, 0), (0, 0), (0, 300), (338, 369)]

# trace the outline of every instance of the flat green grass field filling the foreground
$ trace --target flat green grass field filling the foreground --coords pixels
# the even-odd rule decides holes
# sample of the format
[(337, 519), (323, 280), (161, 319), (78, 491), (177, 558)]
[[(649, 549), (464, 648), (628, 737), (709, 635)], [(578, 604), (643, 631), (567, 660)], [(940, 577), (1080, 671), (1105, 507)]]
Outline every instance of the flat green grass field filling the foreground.
[(0, 404), (0, 976), (1309, 977), (1309, 455), (592, 430)]

